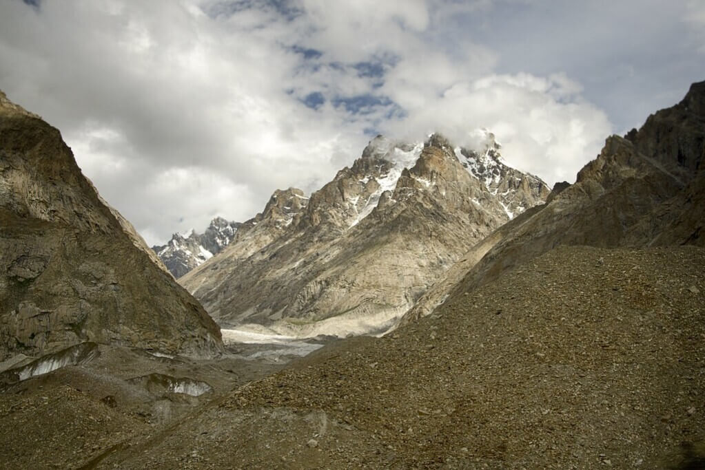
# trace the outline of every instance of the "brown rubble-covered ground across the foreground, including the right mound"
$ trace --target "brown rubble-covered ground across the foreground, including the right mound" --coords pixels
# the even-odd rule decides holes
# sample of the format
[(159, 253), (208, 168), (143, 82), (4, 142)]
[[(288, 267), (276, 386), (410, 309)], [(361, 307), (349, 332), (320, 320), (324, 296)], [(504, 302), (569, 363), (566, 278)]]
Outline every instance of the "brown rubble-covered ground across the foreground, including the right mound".
[[(257, 345), (211, 362), (104, 348), (0, 394), (0, 465), (701, 464), (704, 266), (692, 246), (556, 248), (387, 336), (331, 343), (286, 367), (243, 359)], [(123, 380), (152, 372), (214, 392), (159, 395)]]

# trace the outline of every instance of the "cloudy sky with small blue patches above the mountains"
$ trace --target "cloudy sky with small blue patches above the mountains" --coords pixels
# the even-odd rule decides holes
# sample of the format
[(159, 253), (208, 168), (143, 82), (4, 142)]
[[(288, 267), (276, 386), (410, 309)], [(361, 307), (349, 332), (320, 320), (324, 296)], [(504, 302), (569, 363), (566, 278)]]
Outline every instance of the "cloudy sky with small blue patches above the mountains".
[(489, 129), (575, 181), (705, 80), (705, 0), (2, 0), (0, 89), (149, 244), (319, 189), (376, 134)]

